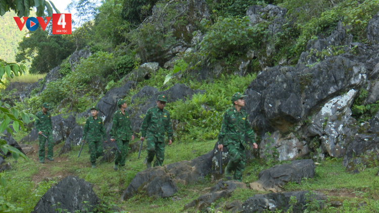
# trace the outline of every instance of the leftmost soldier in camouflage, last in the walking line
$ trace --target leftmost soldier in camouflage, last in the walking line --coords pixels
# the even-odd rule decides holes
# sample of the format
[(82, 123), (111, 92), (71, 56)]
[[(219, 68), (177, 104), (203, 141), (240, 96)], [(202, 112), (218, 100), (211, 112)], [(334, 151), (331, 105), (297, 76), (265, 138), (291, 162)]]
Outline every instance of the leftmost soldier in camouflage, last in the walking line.
[[(42, 110), (35, 114), (37, 116), (34, 126), (35, 129), (38, 132), (38, 140), (39, 140), (39, 163), (44, 164), (45, 159), (45, 142), (46, 139), (48, 140), (48, 156), (46, 159), (49, 161), (54, 161), (53, 159), (53, 147), (54, 147), (54, 140), (53, 140), (53, 125), (52, 125), (52, 116), (48, 112), (50, 109), (49, 103), (43, 103), (42, 104)], [(44, 136), (48, 138), (45, 138)]]

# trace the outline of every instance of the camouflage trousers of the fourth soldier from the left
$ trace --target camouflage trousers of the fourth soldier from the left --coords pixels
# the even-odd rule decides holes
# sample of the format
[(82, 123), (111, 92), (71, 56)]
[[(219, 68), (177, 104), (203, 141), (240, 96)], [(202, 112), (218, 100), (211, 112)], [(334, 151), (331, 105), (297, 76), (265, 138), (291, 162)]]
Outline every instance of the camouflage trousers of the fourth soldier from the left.
[(153, 162), (155, 156), (154, 167), (161, 167), (165, 159), (165, 143), (158, 142), (155, 136), (149, 136), (146, 139), (146, 144), (148, 150), (147, 162)]

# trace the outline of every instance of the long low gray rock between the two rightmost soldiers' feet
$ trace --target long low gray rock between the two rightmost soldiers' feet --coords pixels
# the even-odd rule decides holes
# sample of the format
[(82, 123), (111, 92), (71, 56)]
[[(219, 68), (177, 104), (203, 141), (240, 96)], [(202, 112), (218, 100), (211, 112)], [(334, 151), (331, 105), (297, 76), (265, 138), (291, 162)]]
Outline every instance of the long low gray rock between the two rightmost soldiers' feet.
[(213, 150), (191, 161), (182, 161), (164, 167), (148, 168), (138, 172), (124, 191), (121, 200), (136, 193), (155, 197), (170, 197), (178, 191), (176, 183), (193, 184), (211, 172)]

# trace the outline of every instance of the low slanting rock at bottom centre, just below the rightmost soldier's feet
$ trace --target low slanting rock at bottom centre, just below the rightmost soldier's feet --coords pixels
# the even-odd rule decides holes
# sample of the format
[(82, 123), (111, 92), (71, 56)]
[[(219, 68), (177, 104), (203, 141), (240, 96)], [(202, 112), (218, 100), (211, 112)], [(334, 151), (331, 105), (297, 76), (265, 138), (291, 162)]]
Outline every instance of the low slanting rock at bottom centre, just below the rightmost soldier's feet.
[(220, 198), (228, 198), (237, 188), (246, 189), (246, 184), (239, 181), (219, 181), (210, 190), (210, 193), (201, 195), (197, 199), (184, 205), (184, 209), (194, 207), (195, 211), (201, 211)]

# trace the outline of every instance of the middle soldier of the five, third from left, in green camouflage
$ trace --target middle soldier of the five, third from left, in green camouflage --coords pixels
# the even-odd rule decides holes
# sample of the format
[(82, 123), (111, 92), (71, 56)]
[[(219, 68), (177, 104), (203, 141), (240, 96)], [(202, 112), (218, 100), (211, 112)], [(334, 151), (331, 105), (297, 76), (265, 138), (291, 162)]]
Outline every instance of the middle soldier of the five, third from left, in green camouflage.
[(118, 165), (125, 166), (126, 155), (128, 154), (129, 140), (134, 140), (133, 130), (130, 126), (129, 114), (125, 111), (128, 105), (126, 100), (119, 99), (117, 105), (120, 110), (113, 114), (112, 129), (110, 132), (111, 141), (117, 144), (121, 154), (117, 151), (115, 157), (114, 170), (118, 170)]

